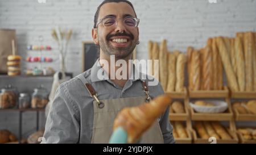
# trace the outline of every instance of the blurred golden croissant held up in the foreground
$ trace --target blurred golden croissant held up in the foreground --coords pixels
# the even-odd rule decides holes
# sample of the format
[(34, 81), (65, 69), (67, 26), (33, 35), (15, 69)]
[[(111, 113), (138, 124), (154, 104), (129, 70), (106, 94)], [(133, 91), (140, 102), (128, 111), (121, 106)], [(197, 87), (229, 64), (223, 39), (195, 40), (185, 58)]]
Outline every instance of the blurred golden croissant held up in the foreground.
[(114, 120), (113, 130), (122, 127), (127, 132), (127, 143), (135, 143), (142, 133), (147, 131), (155, 120), (166, 111), (170, 103), (171, 98), (168, 95), (161, 95), (149, 103), (123, 108)]

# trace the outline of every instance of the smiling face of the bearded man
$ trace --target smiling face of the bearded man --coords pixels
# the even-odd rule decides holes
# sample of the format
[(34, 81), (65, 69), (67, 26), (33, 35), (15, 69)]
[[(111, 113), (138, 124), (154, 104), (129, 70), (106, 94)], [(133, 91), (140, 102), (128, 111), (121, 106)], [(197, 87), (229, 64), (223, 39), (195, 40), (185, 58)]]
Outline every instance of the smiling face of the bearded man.
[(123, 18), (126, 16), (135, 17), (133, 8), (125, 3), (106, 3), (101, 6), (98, 22), (106, 16), (112, 16), (117, 20), (117, 25), (105, 26), (103, 23), (98, 24), (97, 33), (98, 43), (101, 51), (105, 55), (115, 55), (116, 58), (126, 58), (131, 56), (135, 46), (137, 45), (139, 31), (138, 27), (126, 26)]

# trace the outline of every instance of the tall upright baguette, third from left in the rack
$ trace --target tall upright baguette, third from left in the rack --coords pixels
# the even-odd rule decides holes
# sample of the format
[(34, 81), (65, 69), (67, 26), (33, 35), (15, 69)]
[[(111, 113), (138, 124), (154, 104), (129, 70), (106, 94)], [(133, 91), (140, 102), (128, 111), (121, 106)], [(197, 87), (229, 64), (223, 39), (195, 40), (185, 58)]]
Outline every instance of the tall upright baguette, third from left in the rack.
[(167, 41), (163, 40), (160, 45), (160, 52), (159, 52), (159, 65), (160, 65), (160, 82), (162, 84), (163, 90), (166, 91), (167, 86), (167, 78), (168, 78), (168, 72), (166, 72), (167, 69)]

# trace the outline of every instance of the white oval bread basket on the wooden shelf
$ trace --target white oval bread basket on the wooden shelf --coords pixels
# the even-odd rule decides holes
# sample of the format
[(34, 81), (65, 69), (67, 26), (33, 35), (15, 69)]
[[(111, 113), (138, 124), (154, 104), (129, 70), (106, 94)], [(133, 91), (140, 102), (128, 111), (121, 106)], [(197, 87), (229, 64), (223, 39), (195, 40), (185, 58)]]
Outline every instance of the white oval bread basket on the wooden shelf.
[(228, 104), (222, 100), (204, 100), (207, 103), (214, 104), (213, 107), (199, 106), (190, 102), (190, 106), (196, 111), (201, 113), (221, 113), (228, 109)]

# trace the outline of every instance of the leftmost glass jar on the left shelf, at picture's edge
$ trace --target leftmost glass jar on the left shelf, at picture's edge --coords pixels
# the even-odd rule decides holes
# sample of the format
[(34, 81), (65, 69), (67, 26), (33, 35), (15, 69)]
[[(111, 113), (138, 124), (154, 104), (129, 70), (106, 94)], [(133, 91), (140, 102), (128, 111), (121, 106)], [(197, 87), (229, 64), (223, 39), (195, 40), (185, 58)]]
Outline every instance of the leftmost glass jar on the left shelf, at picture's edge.
[(0, 108), (16, 108), (18, 91), (12, 85), (7, 85), (1, 89)]

